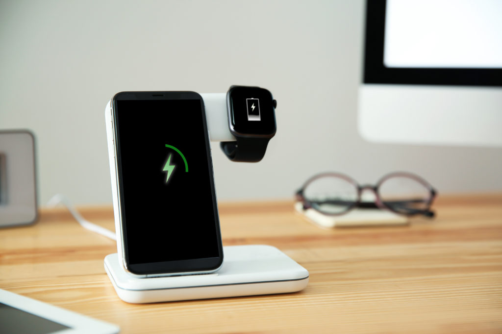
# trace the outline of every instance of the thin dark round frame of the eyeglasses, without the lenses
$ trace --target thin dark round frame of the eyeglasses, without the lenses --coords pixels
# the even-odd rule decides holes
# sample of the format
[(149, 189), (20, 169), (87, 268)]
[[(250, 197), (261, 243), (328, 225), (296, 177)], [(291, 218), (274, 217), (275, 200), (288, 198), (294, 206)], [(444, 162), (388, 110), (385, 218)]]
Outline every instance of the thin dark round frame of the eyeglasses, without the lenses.
[[(305, 188), (310, 183), (312, 183), (313, 181), (315, 181), (317, 179), (320, 179), (322, 177), (327, 177), (327, 176), (341, 178), (341, 179), (351, 183), (357, 189), (356, 201), (354, 201), (351, 205), (347, 206), (347, 208), (344, 211), (335, 212), (335, 213), (327, 213), (327, 212), (320, 211), (314, 205), (312, 205), (312, 202), (308, 201), (303, 194)], [(427, 202), (425, 202), (426, 209), (412, 209), (413, 212), (404, 213), (404, 212), (400, 212), (398, 210), (395, 210), (392, 207), (384, 204), (384, 202), (382, 201), (382, 198), (380, 196), (380, 193), (379, 193), (380, 186), (388, 179), (393, 178), (393, 177), (400, 177), (400, 176), (411, 178), (411, 179), (417, 181), (418, 183), (422, 184), (423, 186), (425, 186), (429, 190), (429, 193), (430, 193), (429, 200)], [(373, 192), (373, 194), (375, 195), (375, 201), (374, 202), (361, 202), (361, 194), (362, 194), (363, 190), (371, 190)], [(319, 211), (322, 214), (325, 214), (328, 216), (340, 216), (340, 215), (346, 214), (350, 210), (357, 207), (357, 208), (364, 208), (364, 209), (386, 209), (391, 212), (394, 212), (394, 213), (397, 213), (400, 215), (404, 215), (404, 216), (408, 216), (408, 217), (416, 216), (416, 215), (424, 215), (426, 217), (433, 218), (435, 215), (435, 212), (430, 210), (430, 208), (431, 208), (432, 202), (434, 201), (436, 196), (437, 196), (437, 190), (434, 189), (426, 180), (424, 180), (423, 178), (421, 178), (420, 176), (418, 176), (416, 174), (413, 174), (410, 172), (402, 172), (402, 171), (391, 172), (391, 173), (384, 175), (378, 182), (376, 182), (375, 185), (370, 185), (370, 184), (360, 185), (357, 181), (355, 181), (351, 177), (349, 177), (345, 174), (342, 174), (342, 173), (337, 173), (337, 172), (319, 173), (319, 174), (312, 176), (307, 181), (305, 181), (305, 183), (302, 185), (302, 187), (299, 190), (297, 190), (297, 192), (295, 193), (296, 200), (299, 202), (302, 202), (304, 210), (312, 208), (312, 209)], [(411, 208), (409, 210), (411, 210)]]

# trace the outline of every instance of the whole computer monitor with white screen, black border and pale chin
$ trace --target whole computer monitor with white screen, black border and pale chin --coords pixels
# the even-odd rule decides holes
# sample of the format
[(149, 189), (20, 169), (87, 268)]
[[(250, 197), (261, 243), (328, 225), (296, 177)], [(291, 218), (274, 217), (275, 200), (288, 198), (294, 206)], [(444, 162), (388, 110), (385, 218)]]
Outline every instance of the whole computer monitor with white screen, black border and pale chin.
[(366, 0), (358, 109), (369, 141), (502, 146), (502, 1)]

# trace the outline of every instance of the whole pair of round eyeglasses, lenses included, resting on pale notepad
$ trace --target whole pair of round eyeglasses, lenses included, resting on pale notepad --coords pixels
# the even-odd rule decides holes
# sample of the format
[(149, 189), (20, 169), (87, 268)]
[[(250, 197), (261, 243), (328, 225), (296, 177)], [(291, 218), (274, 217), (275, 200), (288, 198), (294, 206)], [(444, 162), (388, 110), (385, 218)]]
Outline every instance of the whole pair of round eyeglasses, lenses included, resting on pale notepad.
[[(361, 200), (364, 190), (374, 193), (374, 202)], [(303, 208), (313, 208), (326, 215), (341, 215), (353, 208), (382, 208), (406, 215), (434, 217), (430, 210), (436, 190), (421, 177), (408, 172), (385, 175), (376, 185), (359, 185), (340, 173), (317, 174), (296, 192)]]

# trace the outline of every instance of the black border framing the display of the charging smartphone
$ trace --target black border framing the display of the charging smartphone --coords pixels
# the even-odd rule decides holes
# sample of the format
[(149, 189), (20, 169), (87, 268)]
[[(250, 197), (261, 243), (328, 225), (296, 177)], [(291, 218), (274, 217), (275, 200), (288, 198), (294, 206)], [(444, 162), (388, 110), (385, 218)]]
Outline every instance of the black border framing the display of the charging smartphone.
[[(199, 100), (201, 104), (202, 123), (204, 131), (204, 141), (206, 148), (206, 160), (209, 169), (209, 178), (211, 186), (211, 200), (213, 203), (214, 227), (216, 229), (216, 238), (218, 245), (218, 257), (206, 257), (197, 259), (163, 261), (163, 262), (148, 262), (148, 263), (129, 263), (129, 249), (127, 245), (127, 226), (124, 221), (125, 211), (121, 203), (124, 202), (123, 194), (123, 179), (122, 166), (120, 157), (120, 141), (119, 129), (117, 126), (117, 101), (131, 100)], [(147, 115), (147, 113), (145, 113)], [(190, 273), (209, 273), (218, 270), (223, 263), (223, 248), (221, 242), (221, 231), (219, 224), (218, 207), (216, 202), (216, 189), (214, 186), (214, 175), (212, 168), (212, 160), (209, 146), (209, 135), (207, 131), (206, 115), (204, 109), (204, 101), (202, 97), (195, 92), (120, 92), (112, 99), (112, 128), (115, 151), (115, 170), (117, 176), (117, 192), (120, 220), (120, 236), (122, 247), (122, 261), (126, 270), (136, 275), (147, 276), (164, 276), (173, 274), (190, 274)], [(118, 240), (117, 240), (118, 242)]]

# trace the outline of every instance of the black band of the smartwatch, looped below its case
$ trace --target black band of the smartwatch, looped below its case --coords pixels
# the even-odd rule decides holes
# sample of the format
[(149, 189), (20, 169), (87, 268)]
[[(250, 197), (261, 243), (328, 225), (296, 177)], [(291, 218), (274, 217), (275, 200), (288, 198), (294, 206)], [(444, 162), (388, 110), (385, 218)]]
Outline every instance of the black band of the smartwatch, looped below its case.
[(220, 142), (223, 153), (235, 162), (258, 162), (263, 159), (270, 138), (238, 137), (234, 142)]

